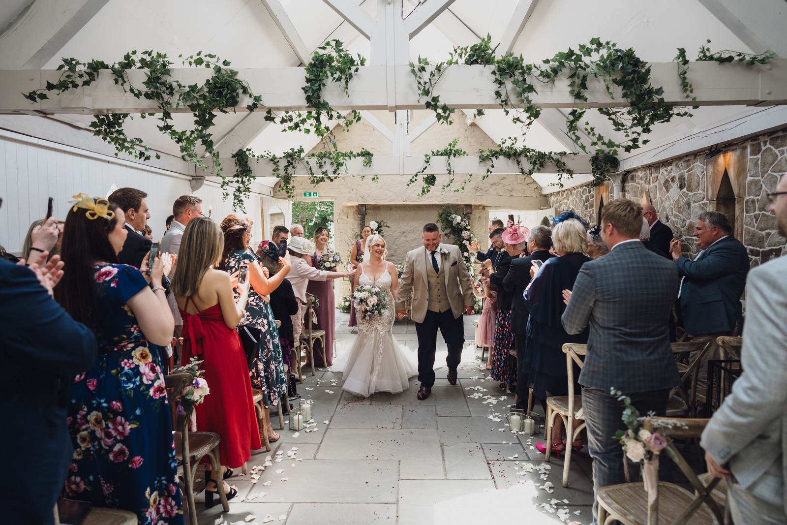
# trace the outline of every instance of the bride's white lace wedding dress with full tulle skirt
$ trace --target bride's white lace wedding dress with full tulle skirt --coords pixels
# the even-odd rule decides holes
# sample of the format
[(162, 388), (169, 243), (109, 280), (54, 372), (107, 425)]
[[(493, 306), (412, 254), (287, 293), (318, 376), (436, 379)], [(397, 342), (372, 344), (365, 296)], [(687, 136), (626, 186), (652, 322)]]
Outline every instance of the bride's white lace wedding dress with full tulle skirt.
[(409, 379), (418, 373), (416, 354), (406, 346), (399, 346), (393, 338), (394, 305), (391, 294), (391, 275), (384, 272), (376, 281), (366, 275), (363, 264), (359, 284), (377, 285), (389, 297), (390, 305), (382, 310), (382, 314), (371, 320), (361, 319), (356, 310), (358, 335), (349, 349), (347, 360), (337, 364), (344, 373), (342, 390), (368, 397), (375, 392), (391, 392), (398, 394), (408, 389)]

